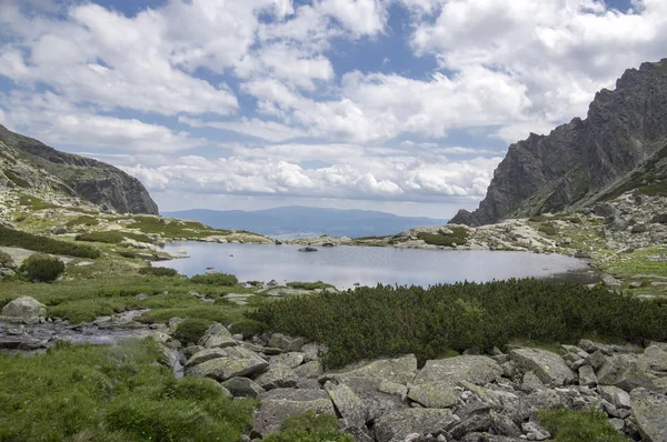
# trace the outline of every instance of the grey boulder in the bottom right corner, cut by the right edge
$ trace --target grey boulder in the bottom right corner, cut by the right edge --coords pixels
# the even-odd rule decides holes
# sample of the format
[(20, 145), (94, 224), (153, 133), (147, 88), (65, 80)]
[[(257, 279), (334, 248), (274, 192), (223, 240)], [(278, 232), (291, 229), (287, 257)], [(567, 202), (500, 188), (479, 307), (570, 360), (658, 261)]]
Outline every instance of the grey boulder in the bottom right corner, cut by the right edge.
[(633, 413), (646, 442), (667, 442), (667, 395), (643, 388), (630, 393)]

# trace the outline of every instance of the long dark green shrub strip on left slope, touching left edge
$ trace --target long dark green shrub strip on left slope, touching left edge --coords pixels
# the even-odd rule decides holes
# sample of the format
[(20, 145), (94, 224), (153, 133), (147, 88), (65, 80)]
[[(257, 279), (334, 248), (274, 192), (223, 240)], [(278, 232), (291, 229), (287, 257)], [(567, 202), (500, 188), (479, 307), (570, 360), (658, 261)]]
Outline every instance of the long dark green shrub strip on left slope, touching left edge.
[(90, 258), (100, 257), (100, 251), (88, 245), (76, 244), (53, 240), (47, 237), (40, 237), (31, 233), (26, 233), (20, 230), (14, 230), (0, 225), (0, 245), (18, 247), (34, 252), (64, 254), (68, 257)]

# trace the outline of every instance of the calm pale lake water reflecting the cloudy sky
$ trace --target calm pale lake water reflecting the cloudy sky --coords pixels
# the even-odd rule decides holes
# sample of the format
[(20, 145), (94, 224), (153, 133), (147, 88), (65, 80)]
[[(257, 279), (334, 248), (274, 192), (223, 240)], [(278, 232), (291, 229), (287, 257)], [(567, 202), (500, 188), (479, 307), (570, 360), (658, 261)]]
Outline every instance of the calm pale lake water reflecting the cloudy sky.
[(361, 285), (429, 285), (457, 281), (492, 281), (508, 278), (556, 278), (591, 282), (595, 273), (586, 262), (558, 255), (501, 251), (451, 251), (348, 247), (318, 247), (299, 252), (301, 245), (218, 244), (179, 242), (165, 247), (189, 258), (156, 265), (176, 269), (189, 277), (207, 268), (236, 274), (239, 281), (323, 281), (339, 289)]

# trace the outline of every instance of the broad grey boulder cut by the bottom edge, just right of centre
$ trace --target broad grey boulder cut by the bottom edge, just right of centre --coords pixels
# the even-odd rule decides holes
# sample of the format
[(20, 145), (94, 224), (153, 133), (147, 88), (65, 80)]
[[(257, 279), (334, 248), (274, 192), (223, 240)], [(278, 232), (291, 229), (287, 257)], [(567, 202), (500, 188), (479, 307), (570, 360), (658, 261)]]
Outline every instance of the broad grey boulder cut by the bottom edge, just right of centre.
[(457, 423), (450, 410), (409, 409), (382, 415), (374, 432), (378, 442), (404, 442), (408, 434), (441, 433)]

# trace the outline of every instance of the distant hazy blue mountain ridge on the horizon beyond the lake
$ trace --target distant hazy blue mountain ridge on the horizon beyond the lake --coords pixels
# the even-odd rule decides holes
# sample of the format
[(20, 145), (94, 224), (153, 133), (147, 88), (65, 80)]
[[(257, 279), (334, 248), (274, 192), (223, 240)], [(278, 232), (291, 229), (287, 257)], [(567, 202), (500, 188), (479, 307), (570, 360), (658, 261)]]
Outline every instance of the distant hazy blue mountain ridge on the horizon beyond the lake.
[(186, 210), (165, 215), (196, 220), (218, 229), (247, 229), (267, 235), (330, 234), (332, 237), (379, 237), (418, 225), (444, 224), (446, 220), (398, 217), (369, 210), (337, 210), (282, 207), (257, 211)]

